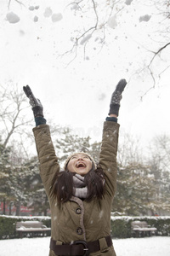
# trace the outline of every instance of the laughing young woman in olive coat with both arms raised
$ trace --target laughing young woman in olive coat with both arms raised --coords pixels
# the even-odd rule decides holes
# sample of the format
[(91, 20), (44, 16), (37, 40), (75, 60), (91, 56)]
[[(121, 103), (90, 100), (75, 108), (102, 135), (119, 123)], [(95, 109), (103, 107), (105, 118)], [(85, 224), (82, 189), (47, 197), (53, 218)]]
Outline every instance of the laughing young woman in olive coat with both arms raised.
[(122, 79), (111, 96), (99, 165), (89, 154), (77, 152), (65, 161), (63, 171), (43, 118), (42, 104), (28, 85), (23, 87), (36, 121), (33, 132), (40, 174), (51, 209), (49, 256), (116, 256), (111, 241), (111, 204), (116, 193), (117, 116), (126, 84)]

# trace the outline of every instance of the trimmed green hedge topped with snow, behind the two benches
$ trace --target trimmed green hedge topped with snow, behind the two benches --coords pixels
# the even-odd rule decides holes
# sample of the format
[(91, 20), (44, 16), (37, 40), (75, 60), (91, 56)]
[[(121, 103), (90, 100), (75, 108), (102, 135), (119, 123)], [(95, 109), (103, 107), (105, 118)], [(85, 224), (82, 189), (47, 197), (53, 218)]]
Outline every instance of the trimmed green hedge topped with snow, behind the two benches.
[[(15, 217), (0, 215), (0, 239), (18, 238), (15, 231), (16, 222), (26, 220), (42, 221), (47, 227), (51, 227), (50, 217)], [(150, 226), (157, 229), (157, 236), (170, 236), (170, 216), (167, 217), (111, 217), (111, 237), (127, 238), (132, 237), (131, 223), (134, 220), (146, 221)]]

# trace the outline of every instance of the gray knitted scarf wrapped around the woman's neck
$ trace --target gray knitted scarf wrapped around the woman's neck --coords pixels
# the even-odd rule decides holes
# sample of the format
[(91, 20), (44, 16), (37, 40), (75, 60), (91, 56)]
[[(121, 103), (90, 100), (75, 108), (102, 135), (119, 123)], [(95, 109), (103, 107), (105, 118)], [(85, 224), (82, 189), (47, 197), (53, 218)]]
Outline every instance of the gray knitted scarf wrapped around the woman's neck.
[(88, 188), (86, 183), (84, 183), (84, 177), (80, 174), (76, 174), (73, 176), (73, 195), (79, 198), (87, 198)]

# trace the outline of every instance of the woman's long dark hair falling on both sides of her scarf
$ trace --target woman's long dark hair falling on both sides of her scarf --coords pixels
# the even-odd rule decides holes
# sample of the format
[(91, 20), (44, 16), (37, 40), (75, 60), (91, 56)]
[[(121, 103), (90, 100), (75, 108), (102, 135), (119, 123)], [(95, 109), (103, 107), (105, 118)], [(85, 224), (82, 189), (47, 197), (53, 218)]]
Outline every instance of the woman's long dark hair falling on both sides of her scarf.
[[(73, 195), (73, 175), (74, 172), (61, 171), (54, 177), (51, 193), (56, 195), (59, 203), (69, 201)], [(101, 166), (97, 166), (94, 170), (94, 166), (84, 176), (84, 183), (88, 187), (88, 196), (86, 201), (91, 201), (94, 197), (102, 199), (104, 195), (104, 172)]]

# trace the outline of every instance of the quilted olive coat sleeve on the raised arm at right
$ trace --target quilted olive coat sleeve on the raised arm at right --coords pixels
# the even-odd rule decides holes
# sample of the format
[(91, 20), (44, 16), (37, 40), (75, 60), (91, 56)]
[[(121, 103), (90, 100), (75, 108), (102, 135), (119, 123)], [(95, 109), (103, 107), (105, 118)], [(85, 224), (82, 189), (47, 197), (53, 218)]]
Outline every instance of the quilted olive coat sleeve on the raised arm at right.
[(116, 153), (119, 125), (116, 122), (105, 121), (102, 137), (99, 164), (105, 173), (106, 192), (113, 197), (116, 192)]

